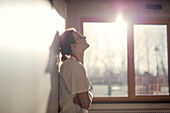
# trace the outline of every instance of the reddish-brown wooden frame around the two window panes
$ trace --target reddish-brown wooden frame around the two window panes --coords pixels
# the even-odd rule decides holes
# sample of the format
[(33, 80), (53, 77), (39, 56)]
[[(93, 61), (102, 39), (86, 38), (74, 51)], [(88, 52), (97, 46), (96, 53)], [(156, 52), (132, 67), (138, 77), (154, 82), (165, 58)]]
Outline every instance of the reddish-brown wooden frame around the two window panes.
[[(170, 18), (134, 18), (125, 20), (127, 22), (127, 59), (128, 59), (128, 97), (94, 97), (94, 103), (102, 102), (170, 102)], [(83, 34), (83, 22), (113, 22), (108, 18), (80, 18), (80, 32)], [(169, 95), (141, 96), (135, 95), (135, 70), (134, 70), (134, 37), (133, 25), (167, 25), (167, 50), (168, 50), (168, 86)]]

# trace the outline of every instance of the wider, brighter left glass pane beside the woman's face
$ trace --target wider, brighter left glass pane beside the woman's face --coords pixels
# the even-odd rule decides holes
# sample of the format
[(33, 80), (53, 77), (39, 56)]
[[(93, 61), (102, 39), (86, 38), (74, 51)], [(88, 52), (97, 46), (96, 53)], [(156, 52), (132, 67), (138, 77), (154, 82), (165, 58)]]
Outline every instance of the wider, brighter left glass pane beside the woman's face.
[(127, 97), (127, 25), (84, 22), (90, 47), (84, 65), (95, 97)]

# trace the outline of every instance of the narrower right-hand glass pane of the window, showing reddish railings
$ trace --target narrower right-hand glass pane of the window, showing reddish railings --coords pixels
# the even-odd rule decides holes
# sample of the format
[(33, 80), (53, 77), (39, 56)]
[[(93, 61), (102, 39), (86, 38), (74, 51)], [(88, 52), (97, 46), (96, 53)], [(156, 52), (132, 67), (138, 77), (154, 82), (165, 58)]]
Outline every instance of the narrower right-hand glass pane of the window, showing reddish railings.
[(169, 95), (167, 25), (134, 25), (136, 95)]

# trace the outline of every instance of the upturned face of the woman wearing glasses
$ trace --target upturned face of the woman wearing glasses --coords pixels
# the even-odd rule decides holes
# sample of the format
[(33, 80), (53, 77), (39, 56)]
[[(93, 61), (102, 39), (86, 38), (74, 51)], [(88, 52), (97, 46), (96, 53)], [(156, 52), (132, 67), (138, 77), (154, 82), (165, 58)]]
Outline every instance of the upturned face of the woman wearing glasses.
[(74, 40), (76, 42), (76, 46), (78, 48), (81, 48), (83, 51), (86, 50), (89, 47), (89, 44), (86, 42), (86, 37), (82, 36), (78, 32), (73, 32)]

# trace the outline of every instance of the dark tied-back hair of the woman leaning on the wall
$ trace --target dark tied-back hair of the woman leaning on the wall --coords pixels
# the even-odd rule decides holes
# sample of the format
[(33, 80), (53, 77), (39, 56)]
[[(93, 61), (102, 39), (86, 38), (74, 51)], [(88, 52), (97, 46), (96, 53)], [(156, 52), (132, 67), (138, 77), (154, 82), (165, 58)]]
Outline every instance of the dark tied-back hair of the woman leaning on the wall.
[(60, 36), (60, 51), (62, 54), (62, 62), (67, 60), (67, 56), (72, 55), (71, 44), (76, 43), (73, 36), (74, 31), (76, 31), (74, 28), (69, 28)]

